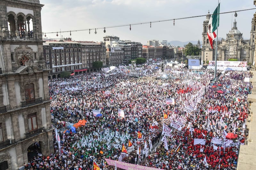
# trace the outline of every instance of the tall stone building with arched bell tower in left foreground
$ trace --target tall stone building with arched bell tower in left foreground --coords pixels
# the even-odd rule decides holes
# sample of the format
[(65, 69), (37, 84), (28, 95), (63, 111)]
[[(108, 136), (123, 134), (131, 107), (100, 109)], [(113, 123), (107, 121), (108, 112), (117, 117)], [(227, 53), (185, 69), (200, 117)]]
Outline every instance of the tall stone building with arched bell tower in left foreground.
[(0, 1), (0, 167), (28, 163), (38, 142), (53, 152), (48, 72), (39, 0)]

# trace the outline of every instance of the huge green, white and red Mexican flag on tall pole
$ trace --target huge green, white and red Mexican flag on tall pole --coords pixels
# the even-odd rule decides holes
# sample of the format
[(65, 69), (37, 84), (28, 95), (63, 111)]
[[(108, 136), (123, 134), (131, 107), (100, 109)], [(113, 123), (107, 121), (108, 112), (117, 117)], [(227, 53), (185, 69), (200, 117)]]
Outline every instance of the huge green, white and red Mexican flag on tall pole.
[[(214, 31), (217, 29), (217, 27), (219, 27), (220, 17), (218, 15), (218, 13), (220, 13), (220, 4), (214, 10), (214, 12), (209, 20), (208, 27), (207, 27), (207, 35), (208, 35), (208, 39), (211, 44), (211, 47), (212, 47), (213, 40), (217, 36)], [(217, 23), (217, 20), (218, 20), (218, 23)], [(213, 47), (212, 47), (212, 49), (213, 49)]]

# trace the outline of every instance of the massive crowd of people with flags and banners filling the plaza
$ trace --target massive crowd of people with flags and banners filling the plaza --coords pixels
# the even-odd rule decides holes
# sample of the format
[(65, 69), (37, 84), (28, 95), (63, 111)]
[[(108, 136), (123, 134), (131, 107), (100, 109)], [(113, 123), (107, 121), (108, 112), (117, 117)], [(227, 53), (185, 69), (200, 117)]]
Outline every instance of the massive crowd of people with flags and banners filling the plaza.
[(30, 166), (115, 169), (107, 161), (116, 160), (160, 169), (236, 167), (250, 73), (227, 71), (212, 82), (207, 69), (166, 67), (169, 79), (158, 79), (154, 67), (143, 66), (138, 78), (122, 68), (50, 80), (55, 153), (38, 154)]

